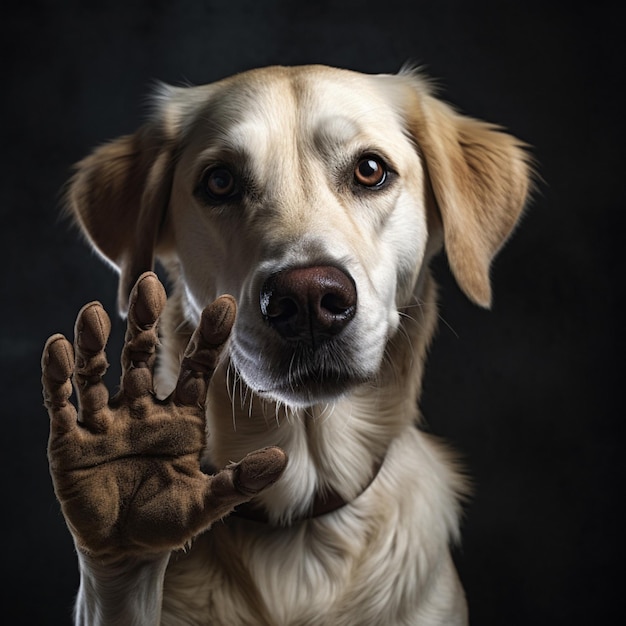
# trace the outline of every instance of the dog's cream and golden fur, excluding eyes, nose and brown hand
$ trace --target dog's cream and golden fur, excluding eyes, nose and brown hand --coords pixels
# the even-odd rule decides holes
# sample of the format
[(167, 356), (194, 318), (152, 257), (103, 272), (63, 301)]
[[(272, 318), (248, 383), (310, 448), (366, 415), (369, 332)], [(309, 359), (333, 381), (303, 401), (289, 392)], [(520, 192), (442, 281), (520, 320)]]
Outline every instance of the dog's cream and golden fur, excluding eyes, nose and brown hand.
[[(356, 181), (364, 155), (387, 168), (382, 185)], [(215, 166), (236, 178), (226, 201), (206, 194)], [(489, 306), (490, 263), (528, 187), (520, 142), (455, 112), (417, 73), (322, 66), (164, 86), (137, 133), (79, 165), (71, 209), (119, 270), (122, 310), (155, 256), (168, 271), (163, 393), (203, 307), (238, 301), (209, 389), (207, 461), (266, 445), (289, 456), (256, 498), (265, 522), (232, 515), (172, 556), (164, 624), (467, 622), (449, 554), (464, 480), (416, 427), (437, 321), (428, 263), (443, 245), (463, 291)], [(268, 323), (260, 293), (312, 266), (338, 268), (358, 302), (340, 332), (304, 348)], [(308, 518), (324, 493), (345, 504)], [(161, 569), (143, 583), (155, 602)], [(120, 594), (132, 576), (120, 573)], [(83, 585), (79, 603), (93, 593)]]

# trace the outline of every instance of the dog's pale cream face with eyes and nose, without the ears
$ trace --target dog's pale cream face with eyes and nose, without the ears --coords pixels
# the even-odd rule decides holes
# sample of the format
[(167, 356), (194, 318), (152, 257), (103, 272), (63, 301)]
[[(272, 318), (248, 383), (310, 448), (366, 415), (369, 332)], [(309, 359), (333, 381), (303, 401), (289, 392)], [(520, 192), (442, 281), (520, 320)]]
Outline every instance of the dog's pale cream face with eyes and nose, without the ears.
[(194, 313), (237, 298), (230, 355), (257, 394), (336, 397), (376, 374), (412, 298), (428, 236), (415, 144), (368, 76), (198, 89), (170, 202)]

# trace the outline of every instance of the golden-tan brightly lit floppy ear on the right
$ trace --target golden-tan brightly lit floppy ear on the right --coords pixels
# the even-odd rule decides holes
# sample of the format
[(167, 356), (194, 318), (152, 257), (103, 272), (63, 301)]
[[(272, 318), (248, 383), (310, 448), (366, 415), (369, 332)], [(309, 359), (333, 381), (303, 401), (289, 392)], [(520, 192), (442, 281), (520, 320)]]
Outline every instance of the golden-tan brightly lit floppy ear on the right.
[(529, 157), (511, 135), (460, 115), (412, 80), (410, 131), (426, 162), (450, 268), (465, 294), (488, 308), (489, 268), (524, 208)]

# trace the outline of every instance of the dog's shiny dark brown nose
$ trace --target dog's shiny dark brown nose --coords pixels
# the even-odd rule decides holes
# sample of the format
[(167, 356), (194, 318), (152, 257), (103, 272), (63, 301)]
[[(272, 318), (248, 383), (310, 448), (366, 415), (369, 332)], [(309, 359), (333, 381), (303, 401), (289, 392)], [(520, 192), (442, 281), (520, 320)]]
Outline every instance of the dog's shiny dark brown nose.
[(356, 313), (356, 286), (332, 266), (272, 274), (261, 289), (261, 313), (282, 337), (316, 347), (341, 332)]

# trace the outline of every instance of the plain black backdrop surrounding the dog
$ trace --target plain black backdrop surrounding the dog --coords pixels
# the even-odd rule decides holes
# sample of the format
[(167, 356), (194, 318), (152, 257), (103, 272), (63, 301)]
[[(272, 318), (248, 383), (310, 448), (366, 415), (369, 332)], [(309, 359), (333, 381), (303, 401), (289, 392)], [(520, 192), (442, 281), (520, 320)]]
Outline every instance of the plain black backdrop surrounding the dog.
[(435, 263), (442, 324), (422, 408), (475, 481), (455, 554), (472, 623), (613, 622), (623, 604), (626, 417), (619, 6), (3, 5), (3, 623), (69, 623), (78, 583), (48, 476), (39, 359), (48, 335), (71, 334), (85, 302), (115, 310), (116, 277), (59, 219), (72, 163), (133, 131), (155, 80), (203, 83), (309, 62), (394, 72), (405, 61), (424, 65), (464, 112), (534, 146), (542, 178), (495, 264), (492, 311), (464, 299), (444, 258)]

